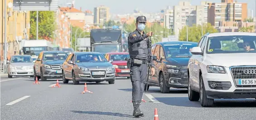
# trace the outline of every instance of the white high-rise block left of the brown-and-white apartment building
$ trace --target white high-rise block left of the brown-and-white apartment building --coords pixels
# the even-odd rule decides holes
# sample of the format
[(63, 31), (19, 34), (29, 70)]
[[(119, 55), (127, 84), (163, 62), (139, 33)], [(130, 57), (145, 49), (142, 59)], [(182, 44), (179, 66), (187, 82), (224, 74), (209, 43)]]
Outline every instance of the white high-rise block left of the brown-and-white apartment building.
[(204, 22), (204, 6), (191, 5), (188, 1), (180, 1), (174, 6), (174, 33), (179, 36), (179, 31), (185, 26), (201, 25)]

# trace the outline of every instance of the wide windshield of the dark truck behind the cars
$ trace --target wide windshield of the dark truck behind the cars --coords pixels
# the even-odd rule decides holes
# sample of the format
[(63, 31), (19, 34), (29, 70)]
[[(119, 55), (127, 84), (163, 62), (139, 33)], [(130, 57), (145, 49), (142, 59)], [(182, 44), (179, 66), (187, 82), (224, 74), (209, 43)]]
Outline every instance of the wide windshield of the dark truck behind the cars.
[(95, 44), (94, 52), (109, 53), (109, 52), (121, 52), (119, 44)]

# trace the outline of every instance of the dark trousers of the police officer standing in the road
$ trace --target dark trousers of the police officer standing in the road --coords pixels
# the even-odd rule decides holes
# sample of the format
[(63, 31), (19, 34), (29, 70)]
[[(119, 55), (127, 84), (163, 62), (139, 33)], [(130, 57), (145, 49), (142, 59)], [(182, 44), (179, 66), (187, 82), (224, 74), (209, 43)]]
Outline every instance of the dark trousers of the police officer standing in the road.
[(141, 102), (147, 79), (147, 64), (133, 65), (130, 68), (130, 80), (132, 83), (132, 101)]

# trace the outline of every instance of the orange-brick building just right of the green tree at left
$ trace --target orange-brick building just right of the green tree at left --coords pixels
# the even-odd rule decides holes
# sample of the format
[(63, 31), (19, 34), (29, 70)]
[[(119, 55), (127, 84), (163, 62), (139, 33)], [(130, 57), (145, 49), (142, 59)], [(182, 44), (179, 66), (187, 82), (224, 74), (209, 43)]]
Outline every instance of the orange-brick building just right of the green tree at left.
[(70, 47), (70, 33), (71, 22), (70, 17), (66, 12), (58, 8), (56, 12), (57, 29), (55, 30), (55, 37), (52, 41), (54, 45), (64, 47)]

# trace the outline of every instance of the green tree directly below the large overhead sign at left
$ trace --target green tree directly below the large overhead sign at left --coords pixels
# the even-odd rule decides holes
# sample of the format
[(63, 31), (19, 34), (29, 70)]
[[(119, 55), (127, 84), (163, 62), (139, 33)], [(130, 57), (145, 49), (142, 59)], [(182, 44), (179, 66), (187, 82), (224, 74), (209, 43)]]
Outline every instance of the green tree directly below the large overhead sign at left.
[[(54, 11), (39, 11), (38, 16), (38, 39), (53, 38), (57, 28)], [(30, 12), (30, 25), (30, 39), (36, 39), (36, 11)]]

